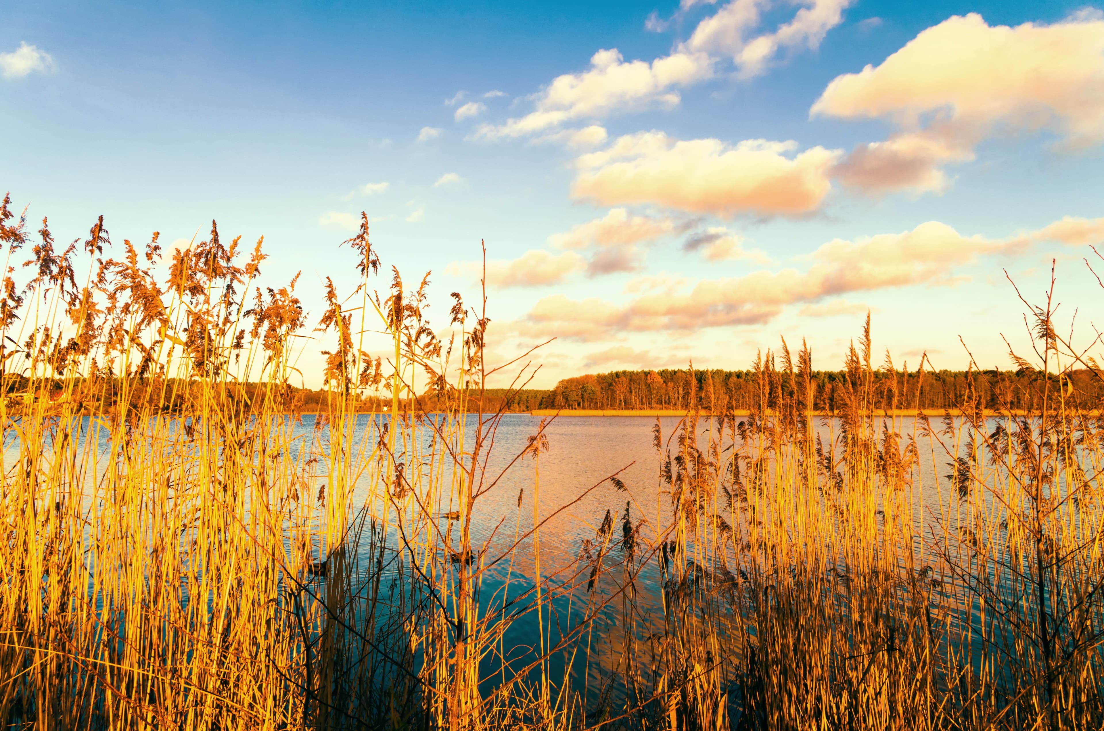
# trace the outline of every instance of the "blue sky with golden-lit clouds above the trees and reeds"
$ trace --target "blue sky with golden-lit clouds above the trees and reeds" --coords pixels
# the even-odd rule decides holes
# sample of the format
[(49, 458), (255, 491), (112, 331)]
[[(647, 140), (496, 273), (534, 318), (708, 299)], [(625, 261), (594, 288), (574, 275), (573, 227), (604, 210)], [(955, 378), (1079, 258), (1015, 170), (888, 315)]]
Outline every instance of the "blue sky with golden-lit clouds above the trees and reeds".
[(1104, 327), (1097, 7), (4, 4), (13, 203), (59, 240), (263, 235), (311, 322), (363, 211), (439, 329), (486, 243), (488, 362), (554, 338), (532, 386), (782, 338), (838, 369), (868, 311), (879, 361), (1009, 368), (1009, 277), (1040, 304), (1052, 264), (1063, 327)]

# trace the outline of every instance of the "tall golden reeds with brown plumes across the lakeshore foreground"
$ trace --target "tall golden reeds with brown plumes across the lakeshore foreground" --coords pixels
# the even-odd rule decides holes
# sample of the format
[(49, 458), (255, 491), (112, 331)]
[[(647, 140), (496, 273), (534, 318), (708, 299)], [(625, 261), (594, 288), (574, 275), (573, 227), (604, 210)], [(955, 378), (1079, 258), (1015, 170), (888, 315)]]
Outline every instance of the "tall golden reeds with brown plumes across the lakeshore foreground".
[[(294, 280), (258, 286), (261, 242), (214, 226), (168, 263), (156, 235), (110, 258), (102, 220), (55, 246), (7, 198), (0, 226), (7, 727), (1104, 725), (1104, 424), (1063, 377), (1100, 369), (1050, 303), (1017, 361), (1034, 416), (875, 416), (911, 404), (874, 389), (868, 320), (832, 417), (783, 343), (750, 416), (705, 379), (656, 424), (655, 483), (549, 511), (552, 422), (492, 457), (502, 413), (468, 413), (529, 354), (484, 361), (485, 293), (431, 328), (428, 276), (382, 286), (367, 218), (360, 286), (328, 283), (314, 328)], [(331, 343), (318, 414), (289, 388), (308, 337)], [(508, 472), (531, 480), (490, 525)], [(597, 495), (549, 565), (541, 528)]]

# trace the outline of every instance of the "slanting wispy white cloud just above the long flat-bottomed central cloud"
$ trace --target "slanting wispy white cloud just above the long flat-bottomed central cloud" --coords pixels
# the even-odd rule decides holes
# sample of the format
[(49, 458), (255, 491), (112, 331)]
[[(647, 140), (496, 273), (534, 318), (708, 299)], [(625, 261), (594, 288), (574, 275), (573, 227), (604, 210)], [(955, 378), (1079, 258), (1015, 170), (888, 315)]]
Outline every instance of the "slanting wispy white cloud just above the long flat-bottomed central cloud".
[(712, 62), (704, 54), (672, 53), (650, 63), (626, 62), (617, 49), (603, 49), (591, 57), (588, 70), (558, 76), (539, 92), (533, 112), (502, 125), (484, 125), (476, 138), (520, 137), (614, 112), (672, 107), (679, 103), (675, 87), (710, 75)]

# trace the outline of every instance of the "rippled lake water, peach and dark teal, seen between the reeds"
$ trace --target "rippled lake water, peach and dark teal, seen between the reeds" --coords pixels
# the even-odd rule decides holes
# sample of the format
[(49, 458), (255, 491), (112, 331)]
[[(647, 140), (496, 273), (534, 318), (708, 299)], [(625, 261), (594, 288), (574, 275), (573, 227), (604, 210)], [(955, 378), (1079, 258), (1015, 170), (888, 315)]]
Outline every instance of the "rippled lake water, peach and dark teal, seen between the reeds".
[[(469, 448), (476, 420), (475, 416), (467, 419)], [(374, 443), (379, 438), (380, 427), (386, 421), (386, 416), (361, 415), (357, 421), (354, 438), (358, 441), (367, 438)], [(645, 555), (649, 553), (649, 543), (655, 537), (657, 525), (670, 525), (670, 498), (664, 494), (669, 488), (660, 484), (660, 455), (652, 446), (652, 428), (656, 424), (654, 417), (561, 416), (546, 427), (549, 451), (542, 453), (539, 460), (530, 455), (516, 459), (526, 448), (529, 437), (538, 433), (540, 424), (539, 417), (526, 414), (505, 415), (495, 432), (492, 452), (486, 469), (480, 470), (481, 484), (477, 487), (486, 491), (479, 496), (473, 511), (473, 545), (479, 552), (480, 565), (486, 566), (497, 559), (502, 559), (485, 569), (482, 573), (479, 604), (485, 613), (522, 596), (534, 585), (534, 541), (524, 540), (513, 552), (508, 552), (518, 537), (524, 536), (533, 528), (534, 497), (539, 499), (538, 519), (546, 520), (540, 528), (541, 573), (552, 586), (563, 585), (573, 576), (577, 584), (585, 585), (585, 574), (580, 579), (577, 574), (562, 573), (562, 571), (580, 557), (585, 541), (596, 540), (596, 530), (606, 511), (609, 511), (614, 519), (614, 541), (620, 536), (620, 519), (626, 508), (634, 525), (645, 520), (640, 530), (641, 553)], [(679, 428), (680, 420), (664, 417), (660, 424), (664, 439), (667, 442)], [(82, 434), (89, 433), (89, 425), (88, 419), (82, 420)], [(328, 448), (328, 434), (325, 430), (316, 434), (315, 426), (312, 415), (306, 415), (301, 423), (293, 425), (293, 434), (296, 437), (295, 449), (308, 444), (321, 446), (323, 451)], [(719, 424), (702, 419), (698, 426), (699, 442), (704, 447), (709, 430), (719, 428)], [(913, 433), (913, 420), (906, 419), (900, 423), (899, 428), (903, 436), (907, 437)], [(418, 428), (427, 441), (429, 428), (425, 425)], [(831, 443), (838, 424), (818, 419), (816, 428), (827, 445)], [(100, 454), (106, 454), (109, 452), (106, 430), (99, 433), (102, 442), (98, 449)], [(670, 445), (677, 453), (673, 439)], [(912, 499), (917, 534), (953, 531), (955, 499), (949, 495), (947, 480), (942, 479), (941, 490), (937, 479), (937, 476), (942, 478), (949, 472), (947, 463), (952, 460), (952, 456), (943, 445), (928, 438), (926, 434), (916, 434), (916, 445), (920, 454), (919, 466), (913, 475)], [(412, 475), (417, 469), (417, 455), (413, 449), (410, 453), (401, 449), (396, 452), (396, 457), (408, 465), (407, 475)], [(18, 442), (9, 436), (4, 449), (6, 472), (12, 466), (17, 455)], [(722, 462), (730, 455), (723, 455)], [(102, 476), (107, 462), (107, 459), (99, 460), (100, 474), (97, 477)], [(539, 496), (535, 496), (538, 474), (540, 487)], [(615, 474), (624, 483), (626, 490), (619, 490), (611, 483), (609, 477)], [(320, 476), (320, 479), (325, 479), (325, 475)], [(490, 487), (491, 483), (493, 487)], [(380, 510), (380, 504), (378, 501), (373, 504), (369, 499), (372, 492), (372, 486), (368, 484), (367, 478), (357, 485), (350, 500), (353, 516), (363, 517)], [(378, 489), (374, 492), (379, 496)], [(445, 497), (447, 499), (447, 495)], [(458, 507), (444, 501), (429, 506), (431, 510), (438, 515), (456, 510)], [(948, 517), (946, 521), (943, 519), (944, 516)], [(444, 529), (449, 521), (440, 520), (440, 523)], [(452, 525), (454, 527), (452, 536), (455, 536), (456, 523)], [(367, 534), (362, 541), (368, 541)], [(392, 529), (388, 533), (388, 542), (391, 560), (384, 571), (393, 575), (397, 563), (406, 561), (407, 554), (403, 551), (401, 537), (395, 530)], [(915, 545), (917, 551), (921, 550), (921, 543), (917, 537)], [(369, 564), (368, 551), (361, 550), (360, 547), (346, 547), (347, 551), (350, 549), (360, 557), (360, 565), (357, 566), (359, 573), (362, 576), (370, 574), (373, 566)], [(316, 550), (318, 558), (323, 558), (330, 548), (317, 545)], [(651, 623), (658, 628), (661, 623), (661, 590), (657, 558), (652, 554), (652, 560), (639, 574), (635, 601), (640, 608), (643, 624), (647, 626)], [(619, 557), (614, 557), (614, 562), (618, 559)], [(386, 587), (386, 582), (384, 586)], [(616, 581), (611, 583), (599, 579), (596, 592), (601, 597), (609, 596), (616, 590)], [(518, 606), (531, 604), (532, 598), (530, 595), (528, 600), (519, 602)], [(551, 607), (545, 607), (544, 624), (550, 645), (555, 645), (563, 634), (570, 633), (578, 624), (585, 611), (585, 600), (586, 593), (576, 589), (564, 593)], [(576, 636), (577, 642), (587, 643), (595, 664), (592, 668), (573, 667), (574, 677), (591, 675), (601, 666), (615, 663), (614, 657), (603, 657), (603, 644), (617, 632), (618, 607), (617, 602), (612, 603), (593, 623), (590, 634)], [(535, 612), (511, 613), (510, 616), (512, 618), (509, 621), (503, 646), (508, 650), (510, 666), (517, 668), (533, 659), (532, 650), (539, 646), (540, 633)], [(553, 660), (551, 668), (553, 675), (562, 672), (563, 664), (562, 655)], [(493, 658), (485, 660), (485, 677), (493, 677), (500, 669), (498, 660)]]

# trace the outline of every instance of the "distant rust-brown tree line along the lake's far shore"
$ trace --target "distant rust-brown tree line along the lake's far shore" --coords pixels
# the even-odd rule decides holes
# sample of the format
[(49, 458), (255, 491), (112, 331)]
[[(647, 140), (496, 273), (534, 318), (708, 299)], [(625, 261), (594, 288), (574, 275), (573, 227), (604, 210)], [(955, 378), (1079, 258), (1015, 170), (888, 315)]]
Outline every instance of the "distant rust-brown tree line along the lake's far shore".
[[(848, 371), (809, 371), (809, 392), (814, 409), (838, 411), (853, 398), (860, 385), (870, 393), (871, 409), (963, 409), (988, 410), (1038, 410), (1042, 403), (1044, 388), (1051, 388), (1051, 399), (1064, 393), (1084, 409), (1098, 409), (1104, 402), (1104, 380), (1087, 369), (1051, 374), (1044, 379), (1033, 370), (1016, 371), (911, 371), (878, 370), (857, 377)], [(688, 370), (662, 369), (650, 371), (611, 371), (576, 375), (561, 380), (551, 390), (539, 389), (486, 389), (468, 393), (469, 412), (527, 413), (538, 409), (587, 409), (587, 410), (692, 410), (722, 412), (729, 409), (747, 410), (774, 409), (796, 390), (795, 378), (784, 370), (760, 368), (758, 370)], [(870, 379), (860, 384), (857, 378)], [(103, 381), (104, 379), (96, 379)], [(95, 401), (83, 403), (86, 413), (110, 411), (123, 401), (130, 406), (140, 403), (156, 403), (162, 413), (176, 413), (188, 398), (188, 391), (198, 388), (194, 382), (179, 379), (150, 378), (137, 386), (130, 384), (124, 392), (113, 388), (117, 379), (106, 379), (95, 388), (89, 379), (77, 379), (71, 393), (81, 400), (85, 392), (95, 392)], [(40, 381), (34, 393), (28, 391), (24, 377), (8, 375), (4, 379), (9, 406), (25, 403), (30, 399), (56, 399), (62, 392), (62, 383)], [(85, 383), (84, 381), (89, 381)], [(121, 381), (117, 384), (121, 386)], [(223, 386), (227, 406), (247, 409), (257, 400), (270, 399), (289, 412), (316, 412), (325, 410), (335, 394), (326, 389), (301, 389), (293, 385), (274, 386), (257, 383), (231, 383)], [(385, 411), (391, 396), (363, 396), (357, 402), (357, 410)], [(416, 403), (403, 399), (404, 409), (425, 412), (438, 410), (438, 394), (426, 392), (417, 396)]]

